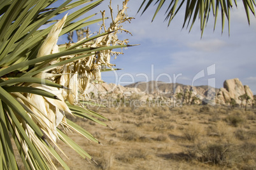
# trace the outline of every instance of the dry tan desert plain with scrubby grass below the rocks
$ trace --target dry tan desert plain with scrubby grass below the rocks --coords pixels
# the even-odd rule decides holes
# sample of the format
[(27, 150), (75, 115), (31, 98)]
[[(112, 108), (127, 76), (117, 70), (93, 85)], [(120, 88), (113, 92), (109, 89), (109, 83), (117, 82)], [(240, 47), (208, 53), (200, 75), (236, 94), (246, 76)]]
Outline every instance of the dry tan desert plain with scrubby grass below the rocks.
[(256, 109), (210, 105), (92, 109), (111, 119), (107, 123), (112, 129), (74, 119), (102, 145), (69, 133), (98, 164), (82, 159), (60, 141), (71, 169), (256, 169)]

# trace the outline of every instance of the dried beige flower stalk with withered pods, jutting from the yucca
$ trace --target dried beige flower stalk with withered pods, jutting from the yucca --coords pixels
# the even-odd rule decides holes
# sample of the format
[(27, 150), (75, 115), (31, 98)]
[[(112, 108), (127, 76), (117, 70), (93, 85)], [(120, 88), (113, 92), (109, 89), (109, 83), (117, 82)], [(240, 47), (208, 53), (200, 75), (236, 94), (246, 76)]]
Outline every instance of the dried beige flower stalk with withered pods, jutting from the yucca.
[[(120, 41), (117, 37), (117, 34), (120, 32), (127, 32), (130, 33), (128, 30), (123, 29), (122, 23), (124, 22), (131, 22), (132, 17), (129, 17), (126, 13), (127, 11), (127, 3), (128, 0), (123, 2), (122, 10), (118, 11), (118, 14), (115, 18), (113, 18), (113, 10), (111, 8), (111, 1), (110, 1), (110, 11), (111, 11), (111, 20), (110, 27), (106, 26), (105, 23), (105, 12), (102, 11), (101, 14), (103, 16), (103, 24), (101, 25), (101, 29), (99, 30), (98, 34), (106, 33), (106, 35), (97, 37), (93, 41), (88, 41), (77, 48), (99, 48), (104, 46), (116, 46), (116, 45), (124, 45), (127, 44), (129, 41), (124, 39)], [(108, 28), (108, 29), (107, 29)], [(89, 32), (89, 29), (87, 29)], [(103, 32), (101, 32), (103, 30)], [(86, 39), (89, 39), (89, 34), (87, 34)], [(76, 46), (76, 44), (80, 43), (81, 41), (86, 41), (86, 39), (82, 39), (73, 44), (67, 44), (67, 50), (72, 48), (72, 46)], [(73, 105), (77, 105), (79, 102), (79, 98), (83, 98), (83, 100), (88, 100), (89, 95), (87, 94), (87, 90), (90, 87), (90, 84), (97, 84), (103, 82), (101, 80), (101, 69), (102, 67), (109, 67), (112, 69), (113, 64), (110, 63), (111, 56), (117, 57), (117, 55), (122, 54), (122, 52), (112, 51), (111, 49), (106, 49), (100, 51), (99, 53), (95, 53), (94, 55), (87, 56), (87, 58), (82, 58), (80, 60), (76, 60), (73, 63), (68, 63), (64, 66), (58, 67), (57, 69), (53, 70), (55, 73), (62, 74), (59, 79), (58, 83), (68, 87), (71, 90), (61, 89), (62, 96), (68, 99), (69, 103)], [(68, 58), (76, 57), (73, 56), (66, 56), (62, 57), (61, 61), (67, 60)], [(79, 92), (79, 93), (78, 93)], [(80, 95), (78, 97), (78, 95)]]

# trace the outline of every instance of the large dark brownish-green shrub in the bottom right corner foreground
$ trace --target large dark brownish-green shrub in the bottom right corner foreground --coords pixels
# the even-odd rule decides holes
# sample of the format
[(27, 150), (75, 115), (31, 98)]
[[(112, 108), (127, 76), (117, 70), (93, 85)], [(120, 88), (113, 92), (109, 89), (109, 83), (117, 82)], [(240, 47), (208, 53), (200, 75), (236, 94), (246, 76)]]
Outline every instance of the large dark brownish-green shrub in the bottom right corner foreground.
[(219, 169), (255, 169), (256, 145), (244, 142), (241, 144), (220, 143), (219, 141), (201, 141), (192, 148), (187, 148), (191, 160), (198, 160), (204, 164), (214, 164)]

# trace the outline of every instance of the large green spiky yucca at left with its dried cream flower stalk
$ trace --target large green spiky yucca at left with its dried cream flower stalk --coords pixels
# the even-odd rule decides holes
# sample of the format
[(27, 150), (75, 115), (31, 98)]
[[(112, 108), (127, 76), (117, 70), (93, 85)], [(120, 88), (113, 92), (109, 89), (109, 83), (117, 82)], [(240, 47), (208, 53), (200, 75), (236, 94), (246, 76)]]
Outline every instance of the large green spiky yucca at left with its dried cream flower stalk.
[[(106, 117), (92, 112), (80, 100), (89, 100), (87, 88), (101, 82), (103, 67), (113, 70), (110, 56), (118, 52), (112, 49), (129, 46), (127, 40), (117, 39), (117, 33), (124, 30), (120, 24), (131, 20), (125, 13), (126, 0), (117, 18), (111, 15), (108, 29), (104, 24), (104, 11), (96, 20), (89, 21), (94, 14), (74, 22), (102, 1), (72, 3), (67, 0), (57, 8), (52, 7), (57, 0), (0, 1), (1, 169), (18, 169), (13, 145), (25, 169), (57, 169), (52, 158), (64, 169), (69, 169), (53, 149), (53, 146), (59, 148), (64, 154), (58, 140), (64, 141), (84, 159), (93, 160), (66, 131), (76, 131), (90, 141), (99, 141), (69, 120), (66, 114), (107, 126), (97, 119), (108, 120)], [(85, 3), (89, 4), (68, 14), (68, 10)], [(54, 20), (53, 17), (62, 14), (61, 20)], [(97, 34), (73, 44), (57, 45), (59, 36), (97, 22), (103, 22)], [(40, 29), (49, 23), (54, 24)]]

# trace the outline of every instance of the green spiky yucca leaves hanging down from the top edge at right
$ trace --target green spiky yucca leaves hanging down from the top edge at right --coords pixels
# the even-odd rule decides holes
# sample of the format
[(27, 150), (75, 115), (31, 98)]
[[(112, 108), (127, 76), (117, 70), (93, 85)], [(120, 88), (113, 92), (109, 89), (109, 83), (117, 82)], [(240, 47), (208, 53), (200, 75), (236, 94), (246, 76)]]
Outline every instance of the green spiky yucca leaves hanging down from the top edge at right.
[[(230, 32), (231, 10), (233, 9), (234, 5), (236, 7), (238, 6), (236, 0), (234, 0), (233, 3), (232, 0), (143, 0), (138, 12), (143, 9), (144, 4), (146, 5), (144, 7), (144, 10), (142, 11), (142, 14), (146, 11), (146, 9), (148, 9), (150, 5), (157, 4), (157, 9), (155, 10), (155, 13), (153, 15), (152, 22), (155, 19), (157, 13), (159, 13), (160, 10), (163, 10), (163, 8), (166, 7), (165, 20), (168, 21), (168, 26), (170, 25), (174, 16), (180, 11), (181, 7), (185, 6), (183, 27), (185, 27), (187, 23), (187, 27), (190, 25), (190, 31), (198, 17), (201, 26), (201, 36), (203, 36), (204, 28), (206, 27), (206, 23), (208, 22), (210, 13), (212, 13), (213, 17), (215, 18), (215, 29), (218, 11), (221, 11), (222, 32), (224, 30), (225, 18), (227, 19)], [(254, 8), (256, 6), (256, 3), (254, 0), (243, 0), (243, 5), (245, 8), (248, 24), (250, 25), (250, 11), (255, 16)]]

